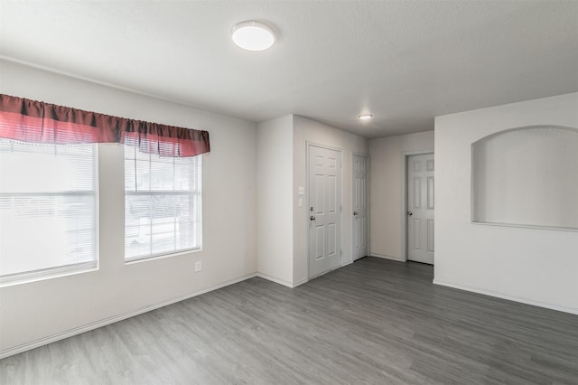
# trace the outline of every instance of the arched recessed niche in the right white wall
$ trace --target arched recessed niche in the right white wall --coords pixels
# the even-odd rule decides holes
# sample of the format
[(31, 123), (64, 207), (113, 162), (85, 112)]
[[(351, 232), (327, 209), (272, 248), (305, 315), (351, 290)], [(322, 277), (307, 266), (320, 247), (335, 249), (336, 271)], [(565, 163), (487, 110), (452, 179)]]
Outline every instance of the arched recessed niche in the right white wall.
[(578, 128), (516, 127), (471, 145), (471, 221), (578, 231)]

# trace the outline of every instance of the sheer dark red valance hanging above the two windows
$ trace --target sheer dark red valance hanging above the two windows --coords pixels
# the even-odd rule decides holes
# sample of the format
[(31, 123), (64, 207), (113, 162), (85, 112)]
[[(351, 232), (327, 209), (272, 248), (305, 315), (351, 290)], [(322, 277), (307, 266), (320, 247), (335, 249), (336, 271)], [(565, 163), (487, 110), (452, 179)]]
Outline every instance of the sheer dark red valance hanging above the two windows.
[(147, 154), (195, 156), (210, 152), (209, 132), (113, 117), (0, 94), (0, 137), (71, 145), (122, 143)]

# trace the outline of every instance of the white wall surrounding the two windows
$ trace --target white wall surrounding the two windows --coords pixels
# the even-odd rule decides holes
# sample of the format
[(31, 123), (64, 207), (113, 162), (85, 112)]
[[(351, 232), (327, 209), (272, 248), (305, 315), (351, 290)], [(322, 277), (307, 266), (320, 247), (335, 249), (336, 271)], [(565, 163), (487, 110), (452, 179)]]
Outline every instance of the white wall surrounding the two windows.
[[(208, 130), (211, 145), (203, 155), (203, 249), (130, 265), (122, 146), (100, 146), (100, 268), (0, 288), (0, 356), (256, 272), (255, 124), (7, 61), (0, 61), (0, 74), (2, 93)], [(200, 273), (194, 273), (197, 260)]]

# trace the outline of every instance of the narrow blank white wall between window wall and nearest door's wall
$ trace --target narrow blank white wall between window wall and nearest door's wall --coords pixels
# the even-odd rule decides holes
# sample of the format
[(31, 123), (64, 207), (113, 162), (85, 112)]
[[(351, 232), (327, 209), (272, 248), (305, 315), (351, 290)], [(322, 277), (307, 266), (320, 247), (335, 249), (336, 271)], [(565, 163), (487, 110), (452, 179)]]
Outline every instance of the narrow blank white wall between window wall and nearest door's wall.
[(257, 270), (293, 286), (293, 115), (257, 126)]

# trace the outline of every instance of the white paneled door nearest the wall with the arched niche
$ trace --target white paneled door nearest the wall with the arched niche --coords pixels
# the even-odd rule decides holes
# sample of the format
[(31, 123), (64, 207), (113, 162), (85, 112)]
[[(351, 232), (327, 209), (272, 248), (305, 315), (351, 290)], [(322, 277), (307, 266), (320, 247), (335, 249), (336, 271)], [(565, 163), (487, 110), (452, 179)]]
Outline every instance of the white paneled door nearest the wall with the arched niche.
[(433, 154), (407, 157), (407, 258), (433, 265)]

